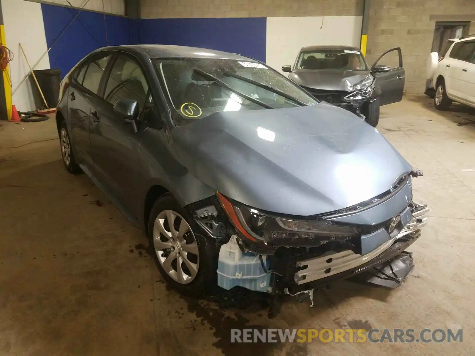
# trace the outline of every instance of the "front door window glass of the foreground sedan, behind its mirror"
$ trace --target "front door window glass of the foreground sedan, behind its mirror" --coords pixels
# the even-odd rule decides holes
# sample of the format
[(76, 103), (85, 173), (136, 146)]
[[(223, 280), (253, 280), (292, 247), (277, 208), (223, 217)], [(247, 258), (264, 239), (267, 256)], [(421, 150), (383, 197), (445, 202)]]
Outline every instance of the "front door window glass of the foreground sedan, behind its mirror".
[(142, 69), (128, 56), (118, 56), (107, 80), (104, 99), (114, 105), (120, 99), (134, 99), (143, 108), (149, 86)]

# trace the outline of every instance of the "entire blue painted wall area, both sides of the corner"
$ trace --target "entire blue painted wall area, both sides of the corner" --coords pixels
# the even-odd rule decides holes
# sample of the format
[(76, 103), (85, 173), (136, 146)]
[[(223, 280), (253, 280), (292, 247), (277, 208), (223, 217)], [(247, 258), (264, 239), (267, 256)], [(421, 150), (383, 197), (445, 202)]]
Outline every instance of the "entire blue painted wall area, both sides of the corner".
[(99, 47), (140, 43), (204, 47), (266, 61), (266, 18), (128, 19), (106, 15), (107, 41), (101, 13), (82, 10), (69, 24), (79, 10), (49, 4), (41, 4), (41, 10), (47, 46), (53, 46), (50, 67), (61, 69), (62, 77)]

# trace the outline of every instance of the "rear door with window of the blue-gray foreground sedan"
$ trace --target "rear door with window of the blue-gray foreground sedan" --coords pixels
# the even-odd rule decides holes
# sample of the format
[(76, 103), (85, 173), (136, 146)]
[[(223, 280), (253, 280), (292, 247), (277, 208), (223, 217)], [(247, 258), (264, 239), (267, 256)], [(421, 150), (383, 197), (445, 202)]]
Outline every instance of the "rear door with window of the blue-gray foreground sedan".
[(97, 98), (99, 83), (110, 54), (97, 54), (86, 59), (72, 75), (68, 92), (69, 135), (79, 163), (93, 166), (89, 141), (89, 114)]

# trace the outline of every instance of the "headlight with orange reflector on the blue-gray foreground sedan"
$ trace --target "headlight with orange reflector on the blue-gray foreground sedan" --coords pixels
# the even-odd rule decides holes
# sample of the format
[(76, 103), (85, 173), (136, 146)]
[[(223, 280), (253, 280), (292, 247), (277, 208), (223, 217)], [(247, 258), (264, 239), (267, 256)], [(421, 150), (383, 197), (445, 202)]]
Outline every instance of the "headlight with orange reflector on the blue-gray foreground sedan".
[(357, 236), (357, 230), (348, 225), (340, 225), (323, 220), (293, 220), (259, 212), (247, 206), (231, 204), (218, 193), (221, 205), (232, 223), (244, 237), (257, 241), (272, 241), (282, 238), (322, 238), (332, 240), (337, 237)]

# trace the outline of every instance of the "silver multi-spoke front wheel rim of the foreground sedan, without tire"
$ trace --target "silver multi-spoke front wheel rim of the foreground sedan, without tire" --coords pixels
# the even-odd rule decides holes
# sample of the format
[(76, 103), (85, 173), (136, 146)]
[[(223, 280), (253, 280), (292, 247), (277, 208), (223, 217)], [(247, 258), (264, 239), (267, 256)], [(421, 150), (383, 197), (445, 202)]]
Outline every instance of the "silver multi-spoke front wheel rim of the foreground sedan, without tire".
[(153, 224), (153, 246), (163, 270), (180, 284), (193, 281), (199, 252), (190, 225), (173, 210), (161, 211)]

